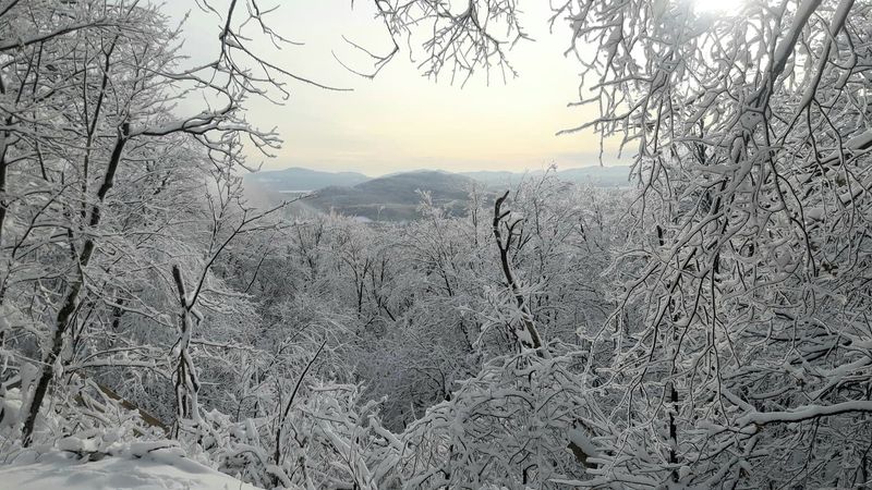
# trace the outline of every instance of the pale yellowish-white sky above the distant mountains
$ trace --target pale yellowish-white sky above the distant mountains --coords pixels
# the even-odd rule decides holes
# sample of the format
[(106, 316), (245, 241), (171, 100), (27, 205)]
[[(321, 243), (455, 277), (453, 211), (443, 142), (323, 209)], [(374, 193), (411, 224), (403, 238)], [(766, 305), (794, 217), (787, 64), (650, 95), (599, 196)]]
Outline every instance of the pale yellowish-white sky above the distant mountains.
[[(596, 115), (594, 107), (568, 108), (578, 98), (580, 66), (562, 52), (569, 46), (564, 24), (548, 32), (548, 1), (521, 0), (525, 32), (535, 42), (510, 52), (519, 72), (506, 84), (484, 73), (465, 85), (425, 78), (410, 53), (396, 57), (374, 79), (342, 68), (331, 51), (360, 71), (371, 65), (342, 35), (373, 52), (392, 46), (384, 25), (374, 19), (371, 1), (288, 0), (271, 14), (271, 26), (305, 46), (287, 46), (270, 53), (283, 69), (320, 83), (352, 88), (327, 91), (289, 83), (291, 98), (280, 107), (252, 99), (249, 120), (276, 126), (284, 140), (277, 158), (263, 168), (306, 167), (325, 171), (358, 171), (379, 175), (413, 169), (537, 170), (554, 162), (561, 169), (598, 164), (600, 140), (592, 132), (555, 136)], [(192, 11), (185, 28), (185, 51), (217, 48), (219, 26), (203, 15), (193, 0), (167, 4), (173, 14)], [(495, 74), (496, 75), (496, 74)], [(606, 147), (605, 164), (617, 149)], [(258, 157), (259, 158), (259, 157)]]

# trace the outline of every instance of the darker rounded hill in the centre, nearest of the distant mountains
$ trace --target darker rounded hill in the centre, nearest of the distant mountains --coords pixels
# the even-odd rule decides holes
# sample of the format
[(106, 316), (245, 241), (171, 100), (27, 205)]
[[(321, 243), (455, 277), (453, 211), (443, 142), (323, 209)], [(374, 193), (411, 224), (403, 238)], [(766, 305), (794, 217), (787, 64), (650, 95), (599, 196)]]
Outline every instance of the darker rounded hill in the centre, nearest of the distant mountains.
[(326, 187), (306, 201), (325, 211), (332, 209), (371, 220), (404, 221), (419, 217), (421, 195), (417, 191), (429, 192), (433, 201), (448, 212), (462, 212), (474, 182), (464, 175), (424, 170), (386, 175), (353, 187)]

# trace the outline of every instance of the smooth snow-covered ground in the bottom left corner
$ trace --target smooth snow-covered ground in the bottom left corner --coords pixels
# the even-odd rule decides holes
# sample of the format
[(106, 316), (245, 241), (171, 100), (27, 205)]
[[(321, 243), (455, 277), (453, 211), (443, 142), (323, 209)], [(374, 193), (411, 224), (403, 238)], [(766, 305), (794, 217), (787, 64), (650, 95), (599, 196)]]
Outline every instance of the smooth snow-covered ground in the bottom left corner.
[(83, 463), (53, 452), (27, 464), (0, 466), (0, 488), (14, 490), (255, 490), (179, 456), (105, 457)]

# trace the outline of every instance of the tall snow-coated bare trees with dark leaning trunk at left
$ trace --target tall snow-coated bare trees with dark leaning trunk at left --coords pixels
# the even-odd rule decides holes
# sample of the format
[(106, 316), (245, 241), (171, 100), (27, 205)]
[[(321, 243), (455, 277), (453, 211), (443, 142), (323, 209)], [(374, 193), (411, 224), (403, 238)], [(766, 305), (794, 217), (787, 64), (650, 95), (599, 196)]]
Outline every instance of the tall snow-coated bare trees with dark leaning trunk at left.
[[(225, 21), (216, 58), (184, 68), (180, 33), (158, 7), (109, 0), (0, 4), (0, 302), (4, 315), (28, 318), (26, 329), (10, 332), (9, 346), (39, 366), (25, 400), (26, 443), (49, 384), (68, 367), (152, 367), (167, 375), (154, 348), (129, 347), (132, 339), (104, 335), (101, 328), (118, 327), (123, 315), (168, 324), (164, 308), (173, 281), (164, 262), (193, 245), (184, 243), (182, 222), (195, 230), (195, 217), (204, 216), (204, 200), (194, 196), (206, 195), (204, 181), (210, 180), (226, 193), (221, 218), (245, 215), (234, 172), (251, 166), (240, 142), (245, 137), (264, 152), (279, 144), (275, 133), (245, 121), (243, 101), (287, 94), (283, 78), (312, 83), (249, 47), (246, 25), (283, 41), (264, 24), (267, 12), (256, 0), (234, 0), (225, 11), (201, 7)], [(179, 113), (181, 101), (199, 97), (217, 107), (207, 102), (194, 115)], [(186, 218), (177, 216), (185, 209)], [(242, 218), (246, 229), (251, 217)], [(223, 233), (213, 226), (192, 302), (182, 298), (187, 313), (214, 254), (223, 248), (217, 247)], [(181, 330), (185, 343), (190, 330)], [(119, 348), (130, 357), (116, 359)], [(195, 392), (196, 383), (187, 391)]]

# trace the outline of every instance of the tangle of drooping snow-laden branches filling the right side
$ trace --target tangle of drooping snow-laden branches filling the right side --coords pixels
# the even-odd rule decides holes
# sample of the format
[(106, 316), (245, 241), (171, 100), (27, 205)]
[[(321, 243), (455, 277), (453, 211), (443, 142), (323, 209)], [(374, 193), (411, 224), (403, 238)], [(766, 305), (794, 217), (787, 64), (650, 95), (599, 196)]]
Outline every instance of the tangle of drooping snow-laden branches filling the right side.
[[(561, 16), (596, 82), (602, 117), (589, 125), (637, 145), (643, 189), (628, 257), (647, 264), (625, 308), (644, 315), (617, 332), (628, 347), (609, 377), (623, 393), (615, 420), (652, 450), (609, 470), (678, 480), (687, 466), (687, 482), (736, 485), (741, 465), (761, 465), (784, 485), (860, 481), (862, 450), (841, 455), (856, 473), (815, 479), (829, 457), (815, 438), (872, 443), (852, 430), (864, 404), (826, 415), (864, 400), (872, 379), (858, 347), (872, 335), (869, 2), (748, 1), (712, 15), (690, 1), (572, 0)], [(585, 58), (584, 41), (601, 51)], [(791, 415), (800, 406), (812, 417)], [(749, 425), (763, 412), (796, 425)], [(646, 431), (670, 414), (677, 436)], [(702, 419), (711, 429), (694, 429)]]

